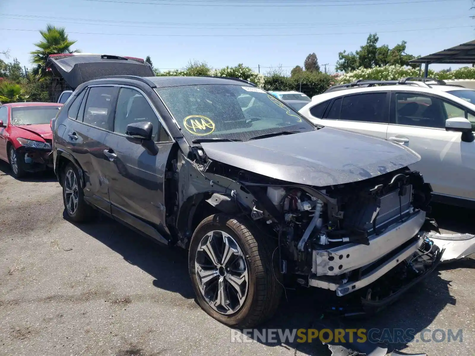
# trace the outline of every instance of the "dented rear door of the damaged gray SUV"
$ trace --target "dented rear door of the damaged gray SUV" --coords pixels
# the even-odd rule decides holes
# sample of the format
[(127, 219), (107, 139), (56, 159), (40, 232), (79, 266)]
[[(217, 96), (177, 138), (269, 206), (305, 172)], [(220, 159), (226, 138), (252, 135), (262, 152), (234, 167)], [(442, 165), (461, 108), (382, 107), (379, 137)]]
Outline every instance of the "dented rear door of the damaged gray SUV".
[(109, 182), (104, 175), (107, 159), (103, 151), (105, 136), (113, 126), (117, 92), (118, 87), (113, 85), (85, 89), (69, 108), (63, 134), (66, 147), (84, 170), (85, 199), (109, 214)]

